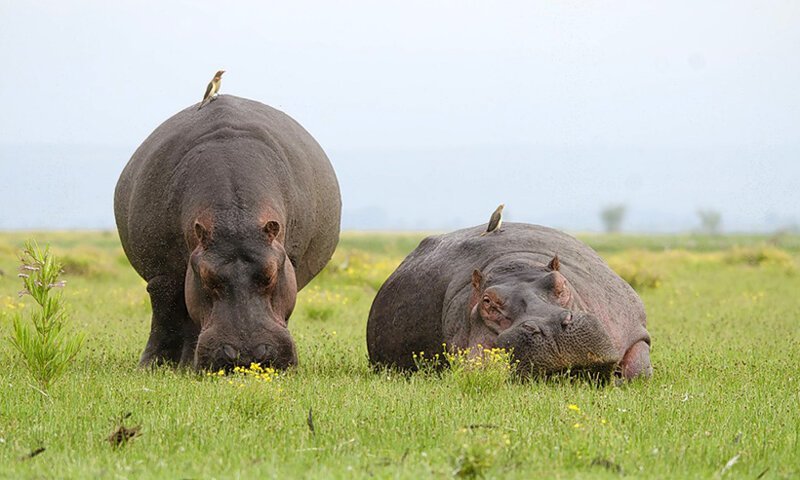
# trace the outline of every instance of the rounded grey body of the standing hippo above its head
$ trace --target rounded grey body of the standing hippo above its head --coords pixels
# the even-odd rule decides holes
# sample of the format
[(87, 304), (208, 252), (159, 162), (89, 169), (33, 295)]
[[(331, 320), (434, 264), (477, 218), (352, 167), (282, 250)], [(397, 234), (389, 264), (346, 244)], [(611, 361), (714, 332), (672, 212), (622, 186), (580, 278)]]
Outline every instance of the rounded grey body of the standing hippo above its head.
[[(288, 115), (221, 95), (162, 123), (136, 150), (117, 184), (114, 210), (132, 265), (145, 278), (164, 264), (186, 265), (193, 208), (230, 172), (241, 208), (269, 195), (286, 218), (284, 248), (302, 288), (330, 260), (339, 238), (341, 199), (319, 144)], [(213, 200), (211, 200), (213, 201)], [(196, 208), (195, 208), (196, 210)], [(177, 241), (176, 241), (177, 240)]]

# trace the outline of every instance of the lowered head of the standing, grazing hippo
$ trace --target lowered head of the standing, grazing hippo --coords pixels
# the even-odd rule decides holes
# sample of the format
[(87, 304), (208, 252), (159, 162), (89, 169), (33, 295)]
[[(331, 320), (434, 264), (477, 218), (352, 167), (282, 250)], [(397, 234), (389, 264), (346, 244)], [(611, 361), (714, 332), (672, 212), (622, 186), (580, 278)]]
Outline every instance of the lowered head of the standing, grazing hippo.
[(297, 296), (294, 267), (278, 240), (280, 224), (214, 228), (197, 221), (186, 269), (186, 306), (199, 324), (196, 369), (297, 363), (287, 329)]

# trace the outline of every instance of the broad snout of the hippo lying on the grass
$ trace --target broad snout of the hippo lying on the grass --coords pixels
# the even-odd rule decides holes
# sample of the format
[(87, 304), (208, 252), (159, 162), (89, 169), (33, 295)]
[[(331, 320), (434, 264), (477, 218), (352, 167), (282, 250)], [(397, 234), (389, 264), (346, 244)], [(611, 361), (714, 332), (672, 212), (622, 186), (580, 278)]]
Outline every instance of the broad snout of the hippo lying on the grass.
[(497, 337), (512, 350), (522, 373), (546, 375), (567, 370), (611, 373), (622, 355), (593, 315), (567, 312), (550, 319), (527, 319)]

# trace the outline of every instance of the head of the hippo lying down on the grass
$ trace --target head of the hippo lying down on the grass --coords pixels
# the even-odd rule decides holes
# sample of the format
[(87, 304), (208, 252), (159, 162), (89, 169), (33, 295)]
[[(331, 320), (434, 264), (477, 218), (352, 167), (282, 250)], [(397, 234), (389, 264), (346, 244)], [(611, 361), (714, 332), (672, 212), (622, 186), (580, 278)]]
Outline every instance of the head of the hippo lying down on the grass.
[(495, 347), (513, 352), (523, 374), (605, 375), (621, 360), (603, 323), (576, 308), (557, 256), (546, 267), (512, 264), (487, 275), (475, 270), (472, 287), (471, 321), (496, 335)]

